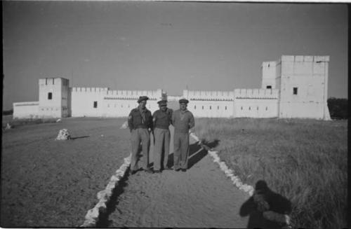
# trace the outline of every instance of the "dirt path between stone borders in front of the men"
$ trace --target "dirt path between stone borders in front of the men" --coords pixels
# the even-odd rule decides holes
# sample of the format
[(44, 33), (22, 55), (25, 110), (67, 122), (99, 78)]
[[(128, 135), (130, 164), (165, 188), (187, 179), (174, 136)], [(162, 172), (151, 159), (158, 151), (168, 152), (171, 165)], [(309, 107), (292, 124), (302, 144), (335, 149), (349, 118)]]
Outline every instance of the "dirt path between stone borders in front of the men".
[(226, 179), (206, 151), (193, 144), (190, 155), (187, 172), (127, 176), (101, 226), (245, 228), (239, 208), (249, 195)]

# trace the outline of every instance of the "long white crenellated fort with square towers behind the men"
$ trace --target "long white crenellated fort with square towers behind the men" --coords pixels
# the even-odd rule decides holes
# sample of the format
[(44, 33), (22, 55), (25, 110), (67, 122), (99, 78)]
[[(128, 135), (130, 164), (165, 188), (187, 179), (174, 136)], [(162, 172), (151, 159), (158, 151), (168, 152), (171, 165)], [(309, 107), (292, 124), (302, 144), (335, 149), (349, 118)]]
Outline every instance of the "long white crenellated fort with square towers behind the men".
[(232, 91), (183, 90), (181, 96), (157, 90), (69, 88), (66, 78), (39, 79), (39, 102), (13, 103), (13, 118), (126, 117), (146, 95), (156, 111), (161, 98), (186, 98), (195, 117), (315, 118), (330, 120), (326, 103), (329, 56), (283, 55), (263, 62), (262, 85)]

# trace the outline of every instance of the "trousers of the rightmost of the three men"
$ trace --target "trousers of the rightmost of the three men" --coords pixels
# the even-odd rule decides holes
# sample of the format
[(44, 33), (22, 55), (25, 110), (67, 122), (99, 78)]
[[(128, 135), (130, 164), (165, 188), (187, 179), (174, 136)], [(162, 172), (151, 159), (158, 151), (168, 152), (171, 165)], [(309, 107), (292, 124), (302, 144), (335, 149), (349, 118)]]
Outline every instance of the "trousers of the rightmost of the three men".
[(189, 134), (174, 132), (174, 169), (187, 169)]

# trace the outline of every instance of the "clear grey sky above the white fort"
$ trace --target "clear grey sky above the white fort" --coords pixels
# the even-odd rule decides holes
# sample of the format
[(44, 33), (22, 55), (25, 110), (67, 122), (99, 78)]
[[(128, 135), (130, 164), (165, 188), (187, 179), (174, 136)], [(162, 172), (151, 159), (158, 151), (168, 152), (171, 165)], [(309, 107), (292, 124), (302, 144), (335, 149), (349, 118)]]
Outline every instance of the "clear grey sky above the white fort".
[(39, 78), (111, 90), (260, 88), (261, 64), (329, 55), (347, 98), (347, 5), (3, 1), (3, 110), (39, 101)]

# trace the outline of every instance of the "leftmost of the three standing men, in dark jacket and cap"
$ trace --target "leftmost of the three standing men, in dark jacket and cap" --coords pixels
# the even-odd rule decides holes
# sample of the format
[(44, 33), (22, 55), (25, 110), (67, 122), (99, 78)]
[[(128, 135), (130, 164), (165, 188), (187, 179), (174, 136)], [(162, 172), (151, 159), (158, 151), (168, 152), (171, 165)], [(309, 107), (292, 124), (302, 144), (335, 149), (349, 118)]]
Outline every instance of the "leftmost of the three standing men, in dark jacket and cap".
[(150, 148), (150, 131), (152, 130), (152, 115), (146, 109), (147, 96), (140, 96), (138, 99), (139, 106), (131, 110), (128, 116), (128, 126), (131, 130), (131, 174), (138, 171), (138, 154), (140, 142), (143, 148), (143, 169), (152, 173), (149, 167), (149, 148)]

